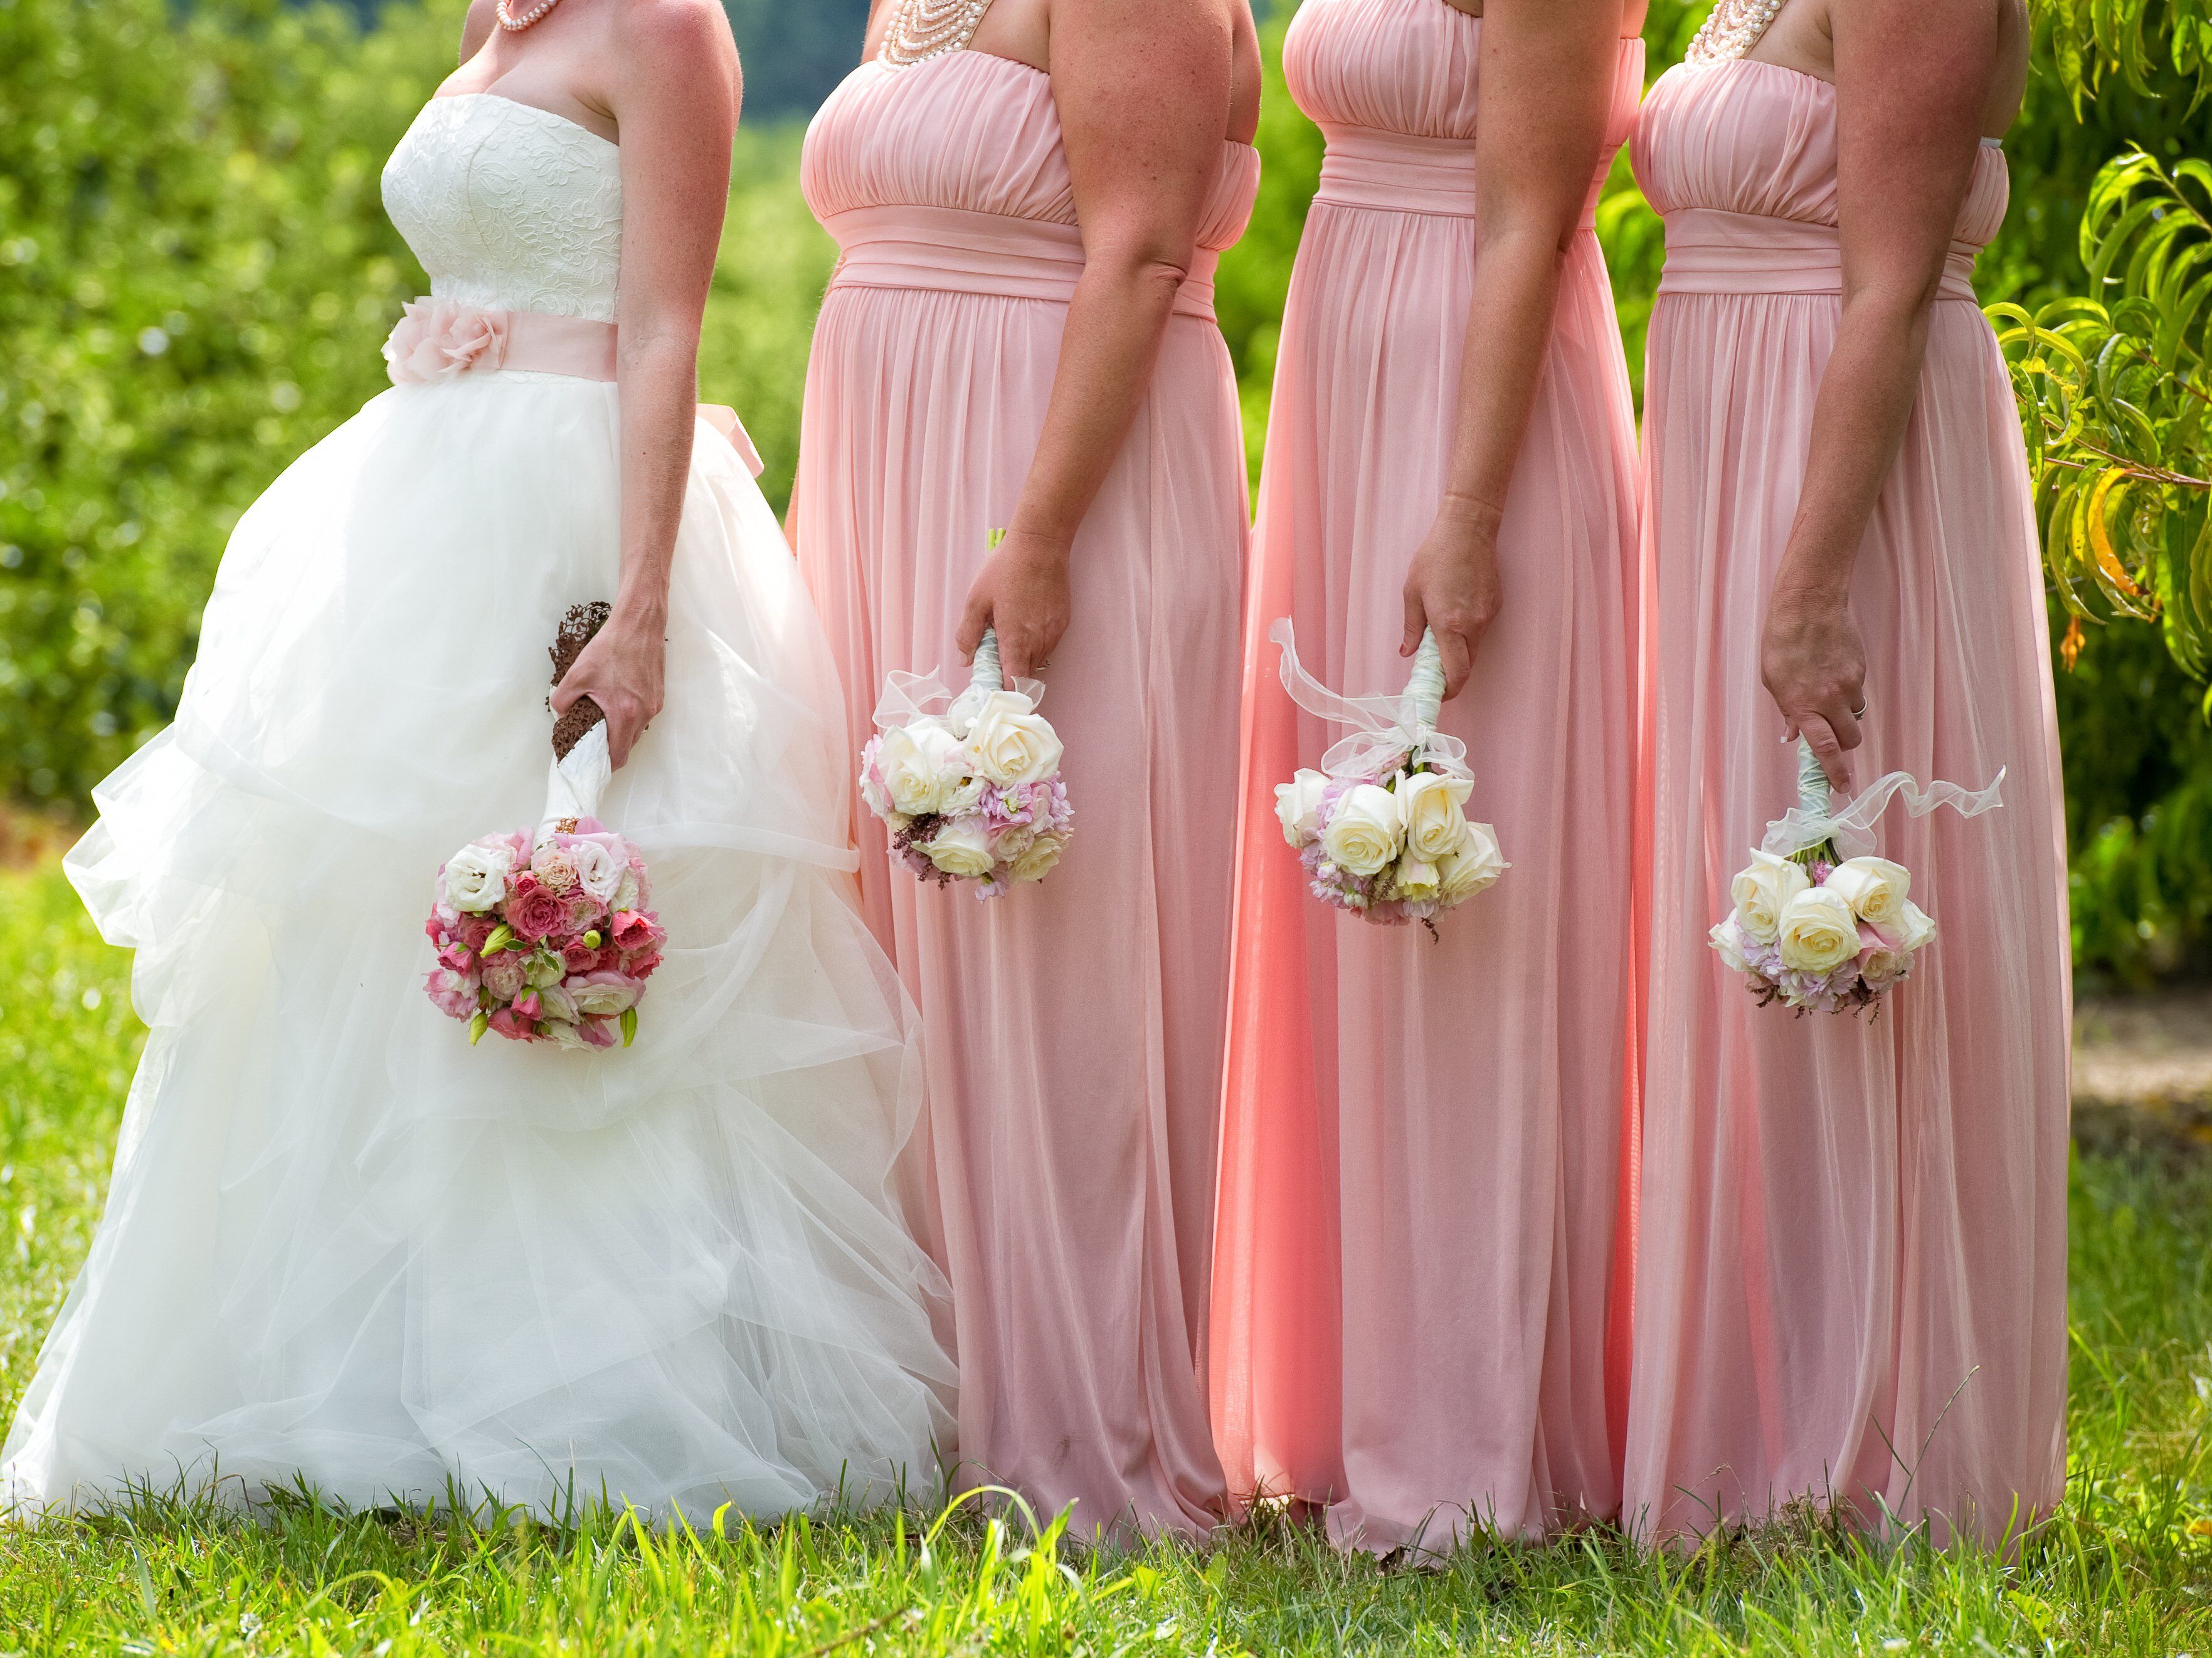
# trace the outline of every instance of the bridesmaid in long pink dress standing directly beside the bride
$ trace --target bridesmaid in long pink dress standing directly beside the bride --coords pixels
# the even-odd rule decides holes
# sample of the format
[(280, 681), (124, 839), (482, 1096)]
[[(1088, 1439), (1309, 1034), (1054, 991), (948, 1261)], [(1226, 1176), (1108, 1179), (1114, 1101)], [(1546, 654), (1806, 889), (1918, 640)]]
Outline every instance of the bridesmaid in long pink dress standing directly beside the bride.
[(878, 0), (869, 46), (805, 146), (843, 261), (799, 555), (856, 743), (887, 670), (989, 621), (1051, 683), (1077, 814), (989, 904), (889, 869), (860, 814), (929, 1028), (962, 1477), (1079, 1501), (1084, 1534), (1201, 1532), (1248, 542), (1212, 272), (1259, 186), (1259, 40), (1245, 0)]

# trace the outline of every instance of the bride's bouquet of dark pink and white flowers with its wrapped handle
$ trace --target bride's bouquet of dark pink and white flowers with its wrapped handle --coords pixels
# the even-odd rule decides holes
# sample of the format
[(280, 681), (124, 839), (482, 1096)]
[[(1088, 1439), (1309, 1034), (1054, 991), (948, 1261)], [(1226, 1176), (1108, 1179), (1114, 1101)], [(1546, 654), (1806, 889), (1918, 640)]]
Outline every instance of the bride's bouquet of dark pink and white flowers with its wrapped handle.
[[(608, 606), (575, 606), (553, 643), (553, 683), (591, 643)], [(557, 1048), (628, 1048), (637, 1004), (661, 962), (646, 860), (593, 809), (613, 776), (606, 714), (584, 696), (553, 727), (538, 829), (482, 836), (438, 869), (425, 924), (438, 948), (425, 990), (469, 1026)]]

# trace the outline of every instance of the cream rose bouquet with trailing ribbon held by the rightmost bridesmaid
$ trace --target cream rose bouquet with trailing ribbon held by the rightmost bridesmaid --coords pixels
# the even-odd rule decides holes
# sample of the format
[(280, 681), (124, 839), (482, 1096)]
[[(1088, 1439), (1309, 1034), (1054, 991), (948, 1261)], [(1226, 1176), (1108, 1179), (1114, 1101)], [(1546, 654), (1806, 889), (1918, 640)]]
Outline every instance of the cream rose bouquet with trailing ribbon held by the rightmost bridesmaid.
[(1798, 738), (1798, 802), (1767, 825), (1750, 867), (1730, 882), (1734, 909), (1714, 924), (1712, 948), (1761, 1008), (1880, 1012), (1936, 942), (1936, 917), (1911, 902), (1913, 873), (1874, 856), (1874, 820), (1893, 798), (1916, 818), (1938, 807), (1978, 818), (2002, 805), (2002, 769), (1980, 791), (1920, 789), (1909, 772), (1889, 772), (1836, 807), (1820, 760)]

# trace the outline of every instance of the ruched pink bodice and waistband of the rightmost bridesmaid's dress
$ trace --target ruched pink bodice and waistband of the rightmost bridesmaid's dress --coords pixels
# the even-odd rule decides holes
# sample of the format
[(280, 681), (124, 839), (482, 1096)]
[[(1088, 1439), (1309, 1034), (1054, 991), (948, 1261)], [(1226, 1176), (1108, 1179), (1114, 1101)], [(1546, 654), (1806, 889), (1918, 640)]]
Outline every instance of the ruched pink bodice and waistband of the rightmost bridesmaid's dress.
[[(1750, 57), (1679, 64), (1644, 99), (1632, 161), (1668, 221), (1661, 292), (1840, 287), (1836, 88), (1825, 80)], [(1984, 141), (1944, 298), (1973, 298), (1973, 256), (2004, 223), (2008, 190), (2004, 150)]]

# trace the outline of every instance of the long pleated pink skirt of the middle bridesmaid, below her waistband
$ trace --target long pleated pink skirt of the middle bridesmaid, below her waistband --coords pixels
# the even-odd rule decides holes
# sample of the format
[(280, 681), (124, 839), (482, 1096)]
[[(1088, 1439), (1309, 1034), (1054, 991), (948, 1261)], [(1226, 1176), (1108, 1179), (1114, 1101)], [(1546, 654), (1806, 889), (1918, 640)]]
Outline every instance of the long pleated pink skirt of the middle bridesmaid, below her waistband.
[(1506, 500), (1504, 610), (1442, 714), (1513, 869), (1431, 940), (1318, 904), (1274, 820), (1274, 785), (1340, 734), (1283, 692), (1274, 619), (1327, 685), (1405, 685), (1473, 267), (1473, 219), (1314, 206), (1245, 626), (1214, 1421), (1232, 1488), (1327, 1501), (1378, 1552), (1617, 1505), (1637, 473), (1593, 234)]

